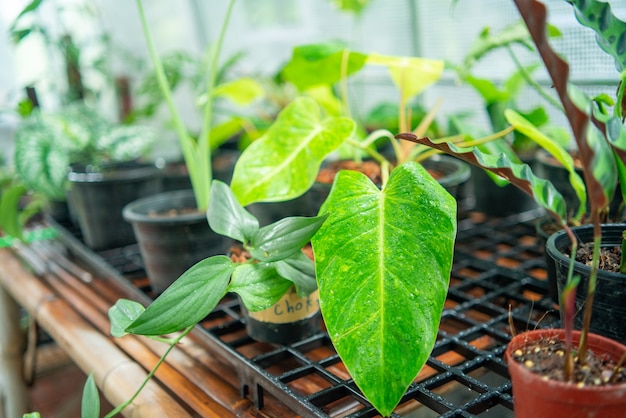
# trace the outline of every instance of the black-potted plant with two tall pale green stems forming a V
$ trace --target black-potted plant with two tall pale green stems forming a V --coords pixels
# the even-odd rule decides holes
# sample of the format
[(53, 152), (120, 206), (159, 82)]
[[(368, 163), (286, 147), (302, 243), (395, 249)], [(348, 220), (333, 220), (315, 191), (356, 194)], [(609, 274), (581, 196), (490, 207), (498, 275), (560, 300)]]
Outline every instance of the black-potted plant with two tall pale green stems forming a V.
[[(214, 102), (216, 97), (240, 100), (248, 97), (251, 81), (239, 79), (216, 85), (218, 60), (234, 1), (229, 3), (223, 20), (220, 36), (208, 67), (206, 92), (201, 97), (202, 127), (194, 137), (183, 124), (172, 97), (172, 87), (166, 76), (161, 58), (158, 56), (141, 1), (137, 1), (143, 32), (158, 87), (172, 117), (184, 166), (188, 173), (191, 189), (173, 190), (130, 203), (124, 209), (124, 218), (132, 224), (139, 243), (148, 278), (156, 294), (165, 290), (178, 276), (197, 261), (213, 254), (223, 254), (228, 241), (207, 227), (206, 210), (209, 205), (209, 189), (213, 178), (212, 150), (231, 132), (231, 119), (214, 125)], [(249, 97), (248, 97), (249, 99)], [(234, 120), (240, 126), (241, 122)], [(184, 250), (184, 252), (181, 252)]]

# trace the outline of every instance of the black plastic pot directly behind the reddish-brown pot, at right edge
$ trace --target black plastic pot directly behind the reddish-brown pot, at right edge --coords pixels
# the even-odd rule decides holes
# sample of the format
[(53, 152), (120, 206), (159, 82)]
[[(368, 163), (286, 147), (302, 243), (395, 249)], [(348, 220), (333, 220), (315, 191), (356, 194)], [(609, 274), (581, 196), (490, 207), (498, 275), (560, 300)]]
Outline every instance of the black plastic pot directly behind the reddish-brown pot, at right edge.
[[(584, 225), (572, 228), (579, 242), (593, 241), (593, 226)], [(602, 246), (612, 247), (621, 245), (622, 231), (626, 224), (602, 225)], [(564, 255), (570, 248), (570, 241), (564, 231), (556, 232), (548, 238), (546, 250), (555, 261), (556, 278), (559, 293), (567, 281), (567, 270), (570, 258)], [(582, 314), (587, 284), (591, 268), (583, 263), (575, 262), (574, 274), (581, 275), (581, 282), (576, 293), (577, 314), (574, 320), (576, 328), (582, 324)], [(596, 294), (591, 315), (591, 332), (626, 343), (626, 274), (612, 273), (599, 270), (596, 285)]]

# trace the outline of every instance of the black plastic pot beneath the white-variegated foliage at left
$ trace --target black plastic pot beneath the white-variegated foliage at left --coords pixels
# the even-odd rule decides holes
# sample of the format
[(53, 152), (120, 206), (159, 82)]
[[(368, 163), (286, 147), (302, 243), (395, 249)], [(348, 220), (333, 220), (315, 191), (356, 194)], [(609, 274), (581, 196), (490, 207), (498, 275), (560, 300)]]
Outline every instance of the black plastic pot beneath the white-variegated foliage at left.
[(122, 209), (161, 190), (159, 170), (150, 164), (116, 164), (101, 171), (73, 167), (68, 179), (70, 213), (76, 217), (85, 244), (93, 250), (135, 243)]

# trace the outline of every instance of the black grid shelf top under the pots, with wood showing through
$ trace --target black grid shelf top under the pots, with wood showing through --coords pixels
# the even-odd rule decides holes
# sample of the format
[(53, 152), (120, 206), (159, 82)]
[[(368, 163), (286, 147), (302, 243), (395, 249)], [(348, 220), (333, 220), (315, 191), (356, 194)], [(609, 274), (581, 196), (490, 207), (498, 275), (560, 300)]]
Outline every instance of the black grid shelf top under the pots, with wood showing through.
[[(538, 212), (459, 222), (450, 289), (432, 354), (395, 417), (506, 417), (513, 401), (503, 352), (517, 330), (554, 326), (546, 297)], [(150, 295), (136, 245), (99, 253)], [(511, 317), (511, 321), (509, 321)], [(378, 416), (350, 378), (328, 335), (288, 346), (259, 343), (245, 331), (238, 299), (227, 296), (200, 323), (206, 340), (235, 365), (240, 390), (263, 407), (266, 394), (302, 416)]]

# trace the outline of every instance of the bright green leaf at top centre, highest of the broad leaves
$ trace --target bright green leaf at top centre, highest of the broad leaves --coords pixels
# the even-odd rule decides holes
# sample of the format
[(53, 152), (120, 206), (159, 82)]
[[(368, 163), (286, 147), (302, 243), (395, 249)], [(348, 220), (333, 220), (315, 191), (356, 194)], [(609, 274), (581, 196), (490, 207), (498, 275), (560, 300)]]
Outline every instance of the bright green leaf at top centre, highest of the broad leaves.
[[(342, 76), (359, 71), (365, 65), (366, 58), (365, 54), (348, 51), (339, 42), (298, 46), (294, 48), (291, 61), (283, 68), (282, 75), (299, 90), (320, 84), (332, 85), (341, 80)], [(342, 74), (344, 60), (345, 74)]]

